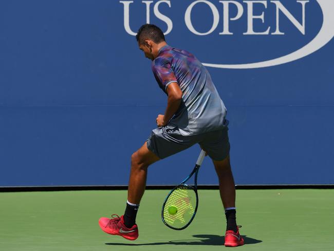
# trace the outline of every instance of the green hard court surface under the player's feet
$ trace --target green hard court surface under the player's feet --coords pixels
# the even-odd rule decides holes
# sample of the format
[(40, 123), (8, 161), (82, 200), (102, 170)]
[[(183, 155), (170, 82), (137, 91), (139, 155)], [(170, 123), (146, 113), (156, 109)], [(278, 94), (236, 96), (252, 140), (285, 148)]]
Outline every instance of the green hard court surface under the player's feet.
[[(0, 193), (0, 250), (221, 250), (225, 218), (218, 190), (200, 190), (193, 223), (176, 231), (160, 210), (167, 190), (147, 190), (128, 241), (99, 228), (100, 217), (124, 212), (126, 191)], [(334, 190), (237, 190), (237, 250), (334, 250)]]

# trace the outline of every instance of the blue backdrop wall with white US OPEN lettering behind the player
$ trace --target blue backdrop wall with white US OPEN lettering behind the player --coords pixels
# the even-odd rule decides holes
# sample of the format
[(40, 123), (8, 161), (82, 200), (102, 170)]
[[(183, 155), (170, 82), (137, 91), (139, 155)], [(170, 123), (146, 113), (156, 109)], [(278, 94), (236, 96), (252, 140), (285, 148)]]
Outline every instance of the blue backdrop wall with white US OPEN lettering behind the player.
[[(206, 63), (236, 184), (333, 184), (330, 2), (1, 1), (0, 186), (127, 184), (166, 104), (133, 36), (146, 22)], [(147, 184), (178, 183), (199, 150), (154, 164)], [(198, 182), (217, 184), (208, 157)]]

